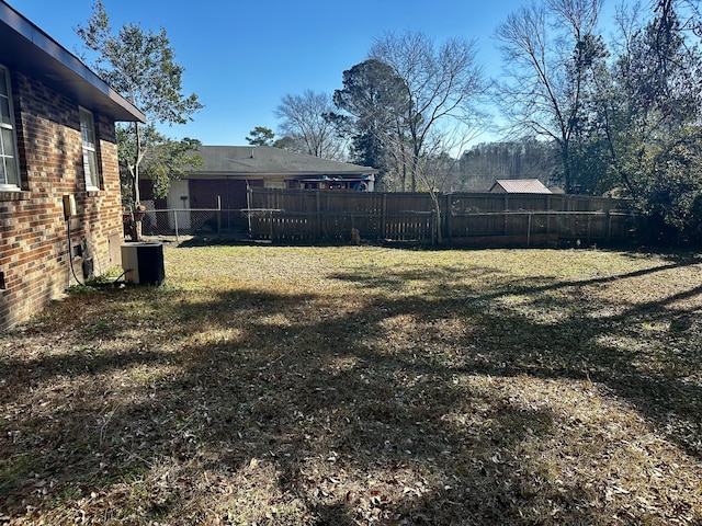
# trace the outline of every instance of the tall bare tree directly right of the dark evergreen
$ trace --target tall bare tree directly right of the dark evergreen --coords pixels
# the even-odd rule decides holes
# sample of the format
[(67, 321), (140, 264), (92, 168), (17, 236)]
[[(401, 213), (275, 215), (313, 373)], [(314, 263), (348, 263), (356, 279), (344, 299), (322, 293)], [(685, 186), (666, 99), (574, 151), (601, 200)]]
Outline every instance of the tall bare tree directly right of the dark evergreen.
[(408, 104), (394, 121), (393, 133), (383, 140), (401, 173), (410, 176), (410, 190), (423, 172), (426, 147), (438, 140), (435, 132), (460, 129), (464, 137), (475, 135), (484, 115), (476, 102), (484, 94), (482, 68), (476, 64), (474, 41), (451, 38), (441, 46), (423, 33), (387, 33), (376, 39), (370, 58), (388, 65), (403, 80)]

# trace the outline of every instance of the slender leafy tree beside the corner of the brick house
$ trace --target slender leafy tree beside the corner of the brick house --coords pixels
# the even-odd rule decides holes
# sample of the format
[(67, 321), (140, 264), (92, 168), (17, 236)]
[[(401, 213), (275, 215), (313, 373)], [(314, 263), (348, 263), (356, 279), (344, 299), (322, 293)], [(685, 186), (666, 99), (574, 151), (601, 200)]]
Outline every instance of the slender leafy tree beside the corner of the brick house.
[[(92, 15), (86, 25), (76, 28), (86, 48), (95, 55), (93, 69), (120, 94), (137, 106), (147, 117), (140, 123), (118, 124), (131, 129), (118, 133), (128, 144), (120, 145), (120, 162), (127, 176), (134, 203), (139, 203), (139, 176), (146, 159), (171, 139), (156, 133), (156, 125), (184, 124), (202, 107), (197, 95), (183, 95), (184, 68), (176, 61), (166, 30), (144, 32), (134, 23), (123, 24), (114, 34), (102, 0), (95, 0)], [(184, 146), (191, 139), (184, 139)], [(171, 145), (177, 150), (178, 146)], [(180, 158), (185, 164), (192, 158)]]

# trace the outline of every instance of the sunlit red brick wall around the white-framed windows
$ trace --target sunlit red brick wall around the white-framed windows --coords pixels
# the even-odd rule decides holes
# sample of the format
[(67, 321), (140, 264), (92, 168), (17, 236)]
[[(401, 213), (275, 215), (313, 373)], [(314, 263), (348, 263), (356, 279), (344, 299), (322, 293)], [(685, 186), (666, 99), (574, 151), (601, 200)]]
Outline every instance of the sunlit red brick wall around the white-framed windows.
[[(87, 260), (95, 275), (117, 266), (122, 243), (114, 123), (93, 113), (102, 181), (100, 191), (87, 192), (78, 104), (22, 73), (10, 75), (22, 192), (0, 192), (0, 330), (75, 285), (69, 265), (81, 282)], [(73, 195), (77, 205), (72, 253), (64, 195)]]

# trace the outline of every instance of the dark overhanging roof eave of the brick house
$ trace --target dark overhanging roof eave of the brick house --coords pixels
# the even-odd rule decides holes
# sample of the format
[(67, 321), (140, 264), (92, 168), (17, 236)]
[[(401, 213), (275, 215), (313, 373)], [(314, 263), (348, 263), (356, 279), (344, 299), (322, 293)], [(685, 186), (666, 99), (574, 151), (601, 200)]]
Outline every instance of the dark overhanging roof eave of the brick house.
[(115, 121), (146, 122), (129, 101), (3, 1), (0, 1), (0, 64), (36, 78), (81, 106)]

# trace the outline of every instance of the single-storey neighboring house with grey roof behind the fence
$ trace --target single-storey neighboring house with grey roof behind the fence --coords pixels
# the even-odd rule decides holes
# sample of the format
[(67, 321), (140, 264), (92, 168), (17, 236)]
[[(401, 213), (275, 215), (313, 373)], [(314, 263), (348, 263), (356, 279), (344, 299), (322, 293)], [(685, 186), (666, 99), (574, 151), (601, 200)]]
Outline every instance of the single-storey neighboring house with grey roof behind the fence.
[[(268, 146), (201, 146), (195, 153), (203, 165), (173, 181), (167, 199), (155, 199), (156, 208), (248, 208), (248, 187), (373, 192), (378, 172)], [(152, 199), (150, 181), (143, 180), (139, 190)], [(230, 228), (246, 225), (241, 215), (227, 220)]]

